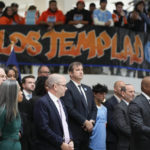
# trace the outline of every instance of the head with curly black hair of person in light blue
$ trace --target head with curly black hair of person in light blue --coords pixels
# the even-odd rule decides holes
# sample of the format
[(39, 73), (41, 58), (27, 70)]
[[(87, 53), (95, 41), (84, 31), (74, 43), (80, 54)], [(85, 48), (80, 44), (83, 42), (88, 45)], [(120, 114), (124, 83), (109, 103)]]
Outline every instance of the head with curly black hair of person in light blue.
[(106, 93), (108, 93), (107, 86), (98, 83), (93, 86), (92, 91), (96, 101), (100, 103), (105, 101)]

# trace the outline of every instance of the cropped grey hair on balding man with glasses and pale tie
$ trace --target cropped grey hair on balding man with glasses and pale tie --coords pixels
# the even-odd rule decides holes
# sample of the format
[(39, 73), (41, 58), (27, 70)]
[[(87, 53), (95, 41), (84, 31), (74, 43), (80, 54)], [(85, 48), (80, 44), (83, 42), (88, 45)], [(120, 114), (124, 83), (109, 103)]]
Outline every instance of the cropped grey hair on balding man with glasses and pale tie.
[(46, 80), (46, 86), (48, 88), (52, 88), (54, 84), (60, 83), (61, 79), (63, 78), (60, 74), (51, 74), (48, 76), (48, 79)]

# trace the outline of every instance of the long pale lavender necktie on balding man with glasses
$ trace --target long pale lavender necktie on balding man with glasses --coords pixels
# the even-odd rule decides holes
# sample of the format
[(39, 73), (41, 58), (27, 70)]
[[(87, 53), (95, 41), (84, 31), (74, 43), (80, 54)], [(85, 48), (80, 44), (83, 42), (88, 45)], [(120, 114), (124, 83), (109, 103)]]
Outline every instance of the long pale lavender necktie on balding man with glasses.
[(65, 115), (64, 109), (62, 107), (61, 101), (57, 100), (57, 102), (59, 105), (59, 114), (60, 114), (60, 118), (61, 118), (62, 126), (63, 126), (63, 131), (64, 131), (64, 140), (65, 140), (65, 143), (69, 143), (70, 135), (69, 135), (69, 130), (68, 130), (68, 124), (66, 121), (66, 115)]

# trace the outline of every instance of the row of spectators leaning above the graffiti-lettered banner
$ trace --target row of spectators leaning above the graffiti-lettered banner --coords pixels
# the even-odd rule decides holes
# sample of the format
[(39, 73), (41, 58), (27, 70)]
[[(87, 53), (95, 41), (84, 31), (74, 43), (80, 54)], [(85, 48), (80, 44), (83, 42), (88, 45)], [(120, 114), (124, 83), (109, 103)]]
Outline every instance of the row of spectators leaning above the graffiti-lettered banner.
[(46, 11), (39, 13), (36, 6), (29, 6), (25, 17), (18, 14), (19, 5), (12, 3), (6, 6), (0, 1), (0, 24), (44, 24), (51, 30), (55, 25), (69, 24), (78, 28), (84, 25), (115, 26), (131, 29), (133, 31), (150, 31), (150, 6), (147, 7), (143, 0), (135, 3), (132, 12), (123, 9), (123, 2), (115, 3), (116, 9), (111, 13), (107, 10), (107, 0), (100, 0), (100, 6), (90, 3), (89, 10), (85, 9), (85, 2), (78, 0), (76, 7), (66, 14), (57, 7), (56, 0), (49, 1)]

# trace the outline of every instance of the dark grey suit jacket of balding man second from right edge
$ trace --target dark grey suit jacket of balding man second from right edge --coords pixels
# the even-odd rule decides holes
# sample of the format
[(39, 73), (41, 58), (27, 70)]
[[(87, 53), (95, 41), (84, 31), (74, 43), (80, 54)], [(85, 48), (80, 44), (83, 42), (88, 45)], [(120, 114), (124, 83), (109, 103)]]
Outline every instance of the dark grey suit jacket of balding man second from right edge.
[(131, 128), (128, 106), (123, 100), (115, 107), (114, 120), (118, 132), (117, 150), (128, 150), (130, 146)]

